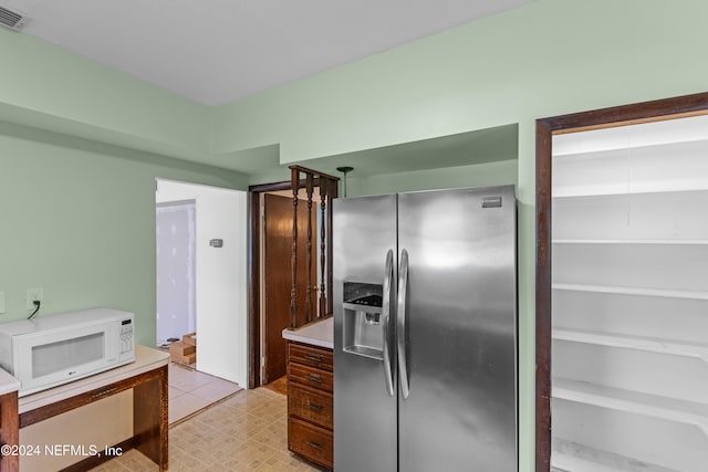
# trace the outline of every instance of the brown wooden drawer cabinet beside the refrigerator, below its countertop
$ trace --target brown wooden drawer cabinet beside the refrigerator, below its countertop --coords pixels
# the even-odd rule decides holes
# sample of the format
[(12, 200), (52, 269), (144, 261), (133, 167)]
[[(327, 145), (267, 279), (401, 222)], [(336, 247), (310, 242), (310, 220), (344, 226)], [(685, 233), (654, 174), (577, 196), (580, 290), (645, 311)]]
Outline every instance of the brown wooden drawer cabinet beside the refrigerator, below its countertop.
[(288, 449), (333, 468), (332, 349), (288, 344)]

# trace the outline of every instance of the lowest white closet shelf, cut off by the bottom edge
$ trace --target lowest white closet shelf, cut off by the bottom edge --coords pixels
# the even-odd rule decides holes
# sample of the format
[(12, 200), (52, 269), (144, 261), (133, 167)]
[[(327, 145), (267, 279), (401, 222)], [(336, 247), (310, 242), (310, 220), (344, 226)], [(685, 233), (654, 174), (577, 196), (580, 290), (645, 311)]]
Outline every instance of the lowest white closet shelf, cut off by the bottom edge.
[(636, 459), (614, 454), (607, 451), (589, 448), (576, 442), (553, 438), (553, 453), (551, 455), (551, 472), (617, 472), (636, 471), (641, 466), (643, 472), (676, 472), (660, 465), (637, 461)]

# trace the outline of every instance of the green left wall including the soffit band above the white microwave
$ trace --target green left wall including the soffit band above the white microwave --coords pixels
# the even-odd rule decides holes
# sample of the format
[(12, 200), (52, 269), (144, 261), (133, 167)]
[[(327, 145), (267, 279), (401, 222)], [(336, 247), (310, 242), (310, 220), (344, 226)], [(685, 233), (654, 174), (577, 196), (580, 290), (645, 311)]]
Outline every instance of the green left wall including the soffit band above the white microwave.
[(42, 313), (127, 310), (154, 344), (155, 178), (247, 177), (180, 160), (209, 162), (206, 106), (4, 28), (0, 56), (0, 321), (42, 287)]

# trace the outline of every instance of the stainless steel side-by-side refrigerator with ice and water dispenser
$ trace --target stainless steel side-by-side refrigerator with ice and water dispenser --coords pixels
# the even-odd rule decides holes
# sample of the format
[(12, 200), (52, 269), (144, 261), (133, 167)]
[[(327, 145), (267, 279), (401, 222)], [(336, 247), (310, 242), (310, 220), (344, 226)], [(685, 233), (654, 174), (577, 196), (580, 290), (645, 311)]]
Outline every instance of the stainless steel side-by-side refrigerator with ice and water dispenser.
[(333, 211), (335, 471), (516, 471), (513, 186)]

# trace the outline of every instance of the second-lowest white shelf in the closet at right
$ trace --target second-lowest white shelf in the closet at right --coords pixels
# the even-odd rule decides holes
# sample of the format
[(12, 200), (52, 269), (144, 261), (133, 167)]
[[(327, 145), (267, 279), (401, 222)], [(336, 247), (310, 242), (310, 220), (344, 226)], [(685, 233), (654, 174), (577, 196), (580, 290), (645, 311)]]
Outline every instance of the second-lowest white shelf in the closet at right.
[(554, 378), (553, 398), (694, 426), (708, 438), (708, 405)]

